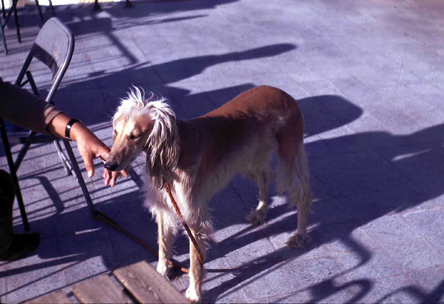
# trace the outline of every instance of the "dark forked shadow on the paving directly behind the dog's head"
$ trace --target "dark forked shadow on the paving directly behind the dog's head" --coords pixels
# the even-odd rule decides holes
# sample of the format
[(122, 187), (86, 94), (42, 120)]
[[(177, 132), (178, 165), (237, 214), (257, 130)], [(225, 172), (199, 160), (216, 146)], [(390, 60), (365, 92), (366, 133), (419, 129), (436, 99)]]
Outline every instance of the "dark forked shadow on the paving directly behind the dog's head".
[[(241, 52), (182, 58), (150, 66), (136, 64), (110, 74), (98, 72), (89, 75), (87, 81), (61, 86), (54, 100), (70, 116), (80, 117), (87, 125), (95, 125), (110, 121), (120, 104), (120, 98), (127, 95), (133, 84), (142, 84), (143, 87), (149, 86), (147, 91), (170, 97), (170, 104), (179, 119), (192, 118), (214, 109), (254, 85), (244, 84), (190, 95), (189, 90), (171, 86), (170, 83), (191, 78), (215, 64), (276, 56), (295, 48), (293, 44), (271, 44)], [(97, 95), (99, 93), (79, 93), (82, 88), (90, 88), (91, 82), (102, 88), (103, 97)], [(119, 84), (117, 88), (116, 83)], [(83, 89), (83, 92), (88, 91)]]

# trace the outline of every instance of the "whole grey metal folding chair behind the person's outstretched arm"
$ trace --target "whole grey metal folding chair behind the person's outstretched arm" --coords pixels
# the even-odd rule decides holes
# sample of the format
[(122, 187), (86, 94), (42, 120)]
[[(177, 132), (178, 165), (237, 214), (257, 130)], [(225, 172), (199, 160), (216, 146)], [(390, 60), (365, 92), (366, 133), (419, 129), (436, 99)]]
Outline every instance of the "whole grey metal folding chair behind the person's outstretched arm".
[[(26, 84), (29, 84), (32, 92), (35, 95), (39, 96), (37, 86), (32, 77), (32, 73), (29, 70), (31, 61), (33, 60), (33, 58), (36, 58), (44, 63), (52, 71), (51, 86), (45, 98), (46, 102), (52, 103), (52, 97), (59, 87), (59, 84), (62, 81), (68, 65), (70, 64), (73, 52), (74, 36), (71, 31), (59, 19), (55, 17), (49, 19), (40, 29), (35, 42), (32, 45), (32, 48), (25, 60), (25, 63), (23, 64), (23, 67), (17, 77), (16, 85), (24, 86)], [(5, 147), (5, 153), (10, 169), (10, 174), (14, 180), (16, 188), (17, 202), (19, 204), (23, 225), (26, 231), (29, 231), (30, 228), (16, 172), (23, 158), (25, 157), (31, 143), (42, 143), (51, 141), (54, 143), (67, 174), (75, 175), (75, 177), (77, 178), (77, 182), (82, 189), (86, 202), (91, 209), (91, 212), (95, 212), (94, 205), (92, 203), (88, 189), (86, 188), (85, 181), (83, 180), (82, 174), (76, 161), (76, 157), (74, 156), (70, 142), (67, 139), (59, 139), (42, 134), (37, 135), (34, 131), (27, 131), (24, 134), (22, 128), (9, 123), (5, 123), (2, 118), (0, 118), (0, 130), (2, 133), (2, 141)], [(64, 143), (68, 157), (65, 155), (62, 147), (60, 146), (60, 140), (62, 140)], [(15, 161), (12, 158), (9, 142), (20, 142), (23, 144)]]

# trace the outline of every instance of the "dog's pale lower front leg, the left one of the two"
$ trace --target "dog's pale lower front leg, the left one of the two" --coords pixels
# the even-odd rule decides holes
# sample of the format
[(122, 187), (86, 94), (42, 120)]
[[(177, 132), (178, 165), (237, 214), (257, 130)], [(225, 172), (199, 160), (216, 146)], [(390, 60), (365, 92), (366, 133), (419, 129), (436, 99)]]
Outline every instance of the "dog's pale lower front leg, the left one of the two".
[(173, 244), (173, 229), (166, 223), (166, 216), (162, 212), (156, 214), (157, 234), (159, 243), (159, 260), (157, 262), (157, 272), (167, 275), (168, 261), (171, 258), (171, 246)]

